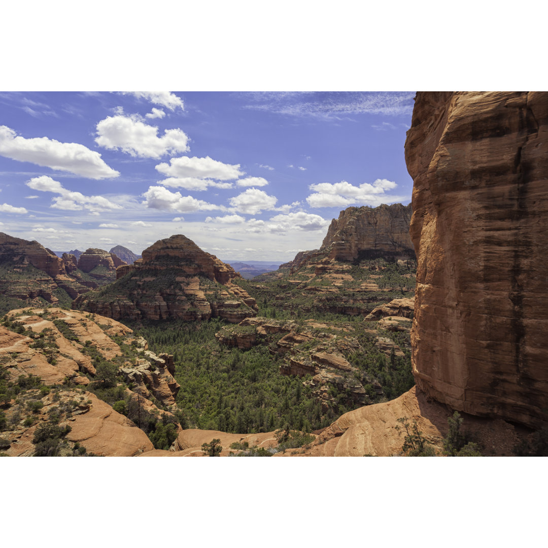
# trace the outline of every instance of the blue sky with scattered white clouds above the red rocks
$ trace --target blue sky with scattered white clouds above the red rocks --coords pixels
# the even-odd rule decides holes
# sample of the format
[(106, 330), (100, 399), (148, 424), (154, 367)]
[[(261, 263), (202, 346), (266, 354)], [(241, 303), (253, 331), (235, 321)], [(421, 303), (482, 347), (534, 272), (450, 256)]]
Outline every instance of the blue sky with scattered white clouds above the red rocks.
[(413, 92), (0, 93), (0, 231), (140, 253), (181, 233), (287, 261), (349, 206), (411, 199)]

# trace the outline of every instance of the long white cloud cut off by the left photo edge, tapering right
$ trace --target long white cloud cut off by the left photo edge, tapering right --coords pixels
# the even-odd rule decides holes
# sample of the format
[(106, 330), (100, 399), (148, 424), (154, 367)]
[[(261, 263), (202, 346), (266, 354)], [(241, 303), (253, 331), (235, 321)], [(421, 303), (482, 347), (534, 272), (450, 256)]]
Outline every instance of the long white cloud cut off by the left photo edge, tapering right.
[(89, 150), (84, 145), (47, 137), (25, 139), (5, 125), (0, 125), (0, 155), (88, 179), (109, 179), (119, 175), (119, 172), (102, 161), (99, 152)]

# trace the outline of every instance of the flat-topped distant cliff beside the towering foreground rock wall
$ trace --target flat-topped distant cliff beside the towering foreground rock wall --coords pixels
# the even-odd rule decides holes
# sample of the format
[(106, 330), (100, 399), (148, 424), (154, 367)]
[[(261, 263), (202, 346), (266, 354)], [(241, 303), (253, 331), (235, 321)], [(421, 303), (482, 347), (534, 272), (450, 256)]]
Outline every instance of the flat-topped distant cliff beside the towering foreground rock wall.
[(415, 252), (409, 237), (411, 204), (382, 204), (376, 208), (349, 207), (333, 219), (321, 250), (330, 259), (412, 259)]

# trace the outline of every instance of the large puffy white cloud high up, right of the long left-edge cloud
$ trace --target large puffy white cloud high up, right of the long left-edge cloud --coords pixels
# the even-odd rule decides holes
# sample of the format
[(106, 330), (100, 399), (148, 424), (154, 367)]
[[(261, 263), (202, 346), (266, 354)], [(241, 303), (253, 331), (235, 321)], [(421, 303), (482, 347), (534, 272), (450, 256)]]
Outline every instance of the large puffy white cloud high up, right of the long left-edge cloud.
[(165, 129), (158, 137), (158, 128), (141, 121), (139, 116), (107, 116), (97, 125), (95, 142), (110, 150), (121, 150), (140, 158), (160, 158), (167, 153), (186, 152), (187, 135), (179, 128)]

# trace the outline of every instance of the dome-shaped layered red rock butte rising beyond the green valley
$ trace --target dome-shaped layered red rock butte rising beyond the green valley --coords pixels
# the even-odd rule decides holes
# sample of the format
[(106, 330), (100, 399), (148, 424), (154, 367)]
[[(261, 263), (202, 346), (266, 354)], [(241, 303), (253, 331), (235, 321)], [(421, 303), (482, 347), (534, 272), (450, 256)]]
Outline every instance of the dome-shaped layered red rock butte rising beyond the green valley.
[(116, 275), (115, 283), (76, 299), (73, 308), (115, 319), (220, 317), (232, 323), (258, 310), (255, 299), (234, 283), (239, 275), (230, 265), (182, 235), (159, 240)]

